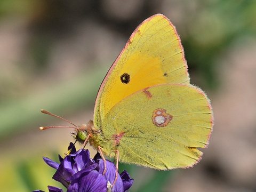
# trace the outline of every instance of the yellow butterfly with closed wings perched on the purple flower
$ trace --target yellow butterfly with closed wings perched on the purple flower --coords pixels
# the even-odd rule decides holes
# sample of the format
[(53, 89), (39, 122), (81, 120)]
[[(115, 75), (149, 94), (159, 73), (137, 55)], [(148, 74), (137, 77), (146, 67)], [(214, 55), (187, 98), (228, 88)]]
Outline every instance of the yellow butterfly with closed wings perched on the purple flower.
[(202, 156), (197, 148), (209, 142), (213, 114), (204, 92), (189, 83), (187, 68), (169, 19), (146, 19), (109, 69), (93, 121), (77, 127), (76, 139), (88, 139), (109, 157), (118, 151), (124, 163), (158, 170), (193, 166)]

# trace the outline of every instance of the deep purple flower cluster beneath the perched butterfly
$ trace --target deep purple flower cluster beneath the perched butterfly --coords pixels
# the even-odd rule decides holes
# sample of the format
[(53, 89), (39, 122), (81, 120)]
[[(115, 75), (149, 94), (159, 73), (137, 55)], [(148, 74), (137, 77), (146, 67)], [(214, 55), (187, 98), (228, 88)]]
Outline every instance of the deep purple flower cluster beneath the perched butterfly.
[[(71, 147), (71, 148), (70, 148)], [(70, 143), (70, 153), (62, 158), (59, 155), (59, 163), (43, 157), (45, 163), (54, 169), (57, 169), (53, 179), (62, 183), (67, 191), (115, 191), (123, 192), (128, 190), (133, 183), (129, 174), (124, 170), (117, 174), (114, 163), (106, 160), (106, 172), (104, 174), (104, 162), (99, 153), (92, 159), (88, 149), (75, 150), (74, 144)], [(110, 187), (114, 183), (113, 187)], [(48, 186), (49, 191), (62, 191), (57, 187)], [(40, 190), (36, 190), (40, 191)]]

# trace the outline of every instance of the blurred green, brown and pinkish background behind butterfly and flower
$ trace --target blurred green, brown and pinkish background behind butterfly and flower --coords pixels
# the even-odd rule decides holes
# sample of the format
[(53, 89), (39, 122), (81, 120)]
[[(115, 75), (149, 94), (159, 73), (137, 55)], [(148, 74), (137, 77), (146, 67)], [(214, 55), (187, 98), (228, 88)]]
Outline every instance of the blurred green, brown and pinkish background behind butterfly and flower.
[(66, 125), (40, 109), (78, 125), (92, 119), (108, 68), (155, 13), (176, 26), (191, 83), (212, 101), (215, 125), (191, 169), (122, 165), (134, 178), (130, 191), (256, 191), (256, 1), (232, 0), (1, 0), (1, 191), (62, 187), (42, 156), (63, 156), (72, 130), (39, 131)]

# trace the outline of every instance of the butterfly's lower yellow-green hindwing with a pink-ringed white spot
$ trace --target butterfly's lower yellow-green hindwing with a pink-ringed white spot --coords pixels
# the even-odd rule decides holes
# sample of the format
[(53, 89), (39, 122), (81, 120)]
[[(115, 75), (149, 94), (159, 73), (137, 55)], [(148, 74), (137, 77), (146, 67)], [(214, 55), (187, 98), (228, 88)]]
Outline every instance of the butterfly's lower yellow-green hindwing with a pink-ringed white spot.
[[(210, 101), (192, 85), (162, 84), (118, 102), (102, 122), (106, 154), (154, 169), (197, 163), (213, 125)], [(100, 144), (100, 145), (101, 145)], [(113, 151), (113, 153), (111, 153)]]

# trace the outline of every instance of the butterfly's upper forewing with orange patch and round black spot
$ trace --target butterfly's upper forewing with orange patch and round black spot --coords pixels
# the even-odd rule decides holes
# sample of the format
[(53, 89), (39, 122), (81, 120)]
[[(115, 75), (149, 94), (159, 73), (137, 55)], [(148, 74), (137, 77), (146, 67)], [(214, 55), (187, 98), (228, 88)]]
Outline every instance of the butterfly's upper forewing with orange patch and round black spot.
[(187, 63), (180, 38), (162, 14), (143, 21), (104, 78), (94, 107), (94, 126), (128, 95), (161, 83), (189, 84)]

